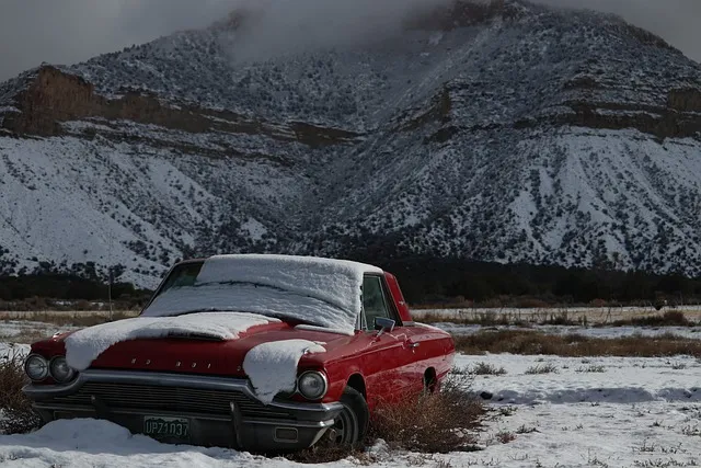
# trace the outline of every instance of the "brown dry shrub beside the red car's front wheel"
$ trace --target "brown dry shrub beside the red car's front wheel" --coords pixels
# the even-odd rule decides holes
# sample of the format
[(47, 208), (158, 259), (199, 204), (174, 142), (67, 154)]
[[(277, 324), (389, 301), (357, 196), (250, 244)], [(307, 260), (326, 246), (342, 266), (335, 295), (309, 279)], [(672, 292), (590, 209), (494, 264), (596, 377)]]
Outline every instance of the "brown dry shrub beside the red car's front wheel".
[(439, 391), (381, 404), (372, 414), (369, 436), (392, 448), (422, 453), (473, 450), (475, 431), (487, 410), (466, 389), (464, 376), (452, 376)]

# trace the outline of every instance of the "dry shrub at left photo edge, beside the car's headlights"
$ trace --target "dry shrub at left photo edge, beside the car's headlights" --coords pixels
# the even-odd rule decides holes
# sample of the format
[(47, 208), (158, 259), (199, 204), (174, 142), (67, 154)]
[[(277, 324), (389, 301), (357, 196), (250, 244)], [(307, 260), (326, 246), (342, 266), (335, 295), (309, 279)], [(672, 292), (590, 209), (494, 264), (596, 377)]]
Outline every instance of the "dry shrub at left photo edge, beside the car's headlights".
[(22, 392), (22, 387), (28, 384), (23, 364), (20, 353), (0, 358), (0, 433), (25, 433), (42, 424), (32, 402)]

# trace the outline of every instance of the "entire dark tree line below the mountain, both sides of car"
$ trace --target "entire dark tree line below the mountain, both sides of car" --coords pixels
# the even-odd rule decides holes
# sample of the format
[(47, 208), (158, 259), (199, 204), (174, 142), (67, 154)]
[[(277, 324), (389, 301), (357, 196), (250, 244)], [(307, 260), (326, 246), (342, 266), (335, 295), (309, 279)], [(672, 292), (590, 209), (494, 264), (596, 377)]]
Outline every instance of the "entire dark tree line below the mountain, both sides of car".
[[(393, 273), (406, 300), (412, 305), (475, 305), (530, 298), (550, 305), (590, 304), (602, 300), (622, 305), (701, 303), (701, 277), (682, 274), (622, 272), (606, 267), (581, 269), (403, 256), (378, 260), (353, 260), (376, 264)], [(22, 275), (0, 275), (0, 300), (25, 300), (33, 297), (56, 300), (106, 300), (106, 278), (92, 272), (59, 273), (35, 271)], [(143, 303), (152, 294), (126, 282), (112, 284), (112, 298)], [(507, 304), (503, 304), (507, 305)], [(512, 304), (514, 305), (514, 304)]]

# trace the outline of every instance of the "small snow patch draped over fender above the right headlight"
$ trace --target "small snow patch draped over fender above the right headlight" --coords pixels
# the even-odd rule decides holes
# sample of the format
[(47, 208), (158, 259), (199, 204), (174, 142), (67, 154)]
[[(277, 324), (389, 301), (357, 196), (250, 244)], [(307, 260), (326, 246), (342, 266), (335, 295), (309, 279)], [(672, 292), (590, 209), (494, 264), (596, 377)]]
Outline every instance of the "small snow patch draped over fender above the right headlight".
[(280, 391), (295, 390), (297, 365), (304, 354), (325, 353), (326, 349), (308, 340), (281, 340), (253, 346), (243, 359), (257, 398), (265, 404)]

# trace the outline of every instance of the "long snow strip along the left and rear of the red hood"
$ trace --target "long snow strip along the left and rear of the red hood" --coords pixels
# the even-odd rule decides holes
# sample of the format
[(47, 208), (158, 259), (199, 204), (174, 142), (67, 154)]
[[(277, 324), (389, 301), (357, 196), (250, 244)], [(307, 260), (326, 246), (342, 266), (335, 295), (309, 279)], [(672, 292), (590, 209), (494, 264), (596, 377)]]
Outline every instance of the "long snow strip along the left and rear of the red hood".
[(179, 317), (136, 317), (79, 330), (66, 338), (66, 361), (84, 370), (113, 344), (140, 338), (197, 334), (221, 340), (239, 338), (251, 327), (279, 320), (255, 313), (203, 312)]

